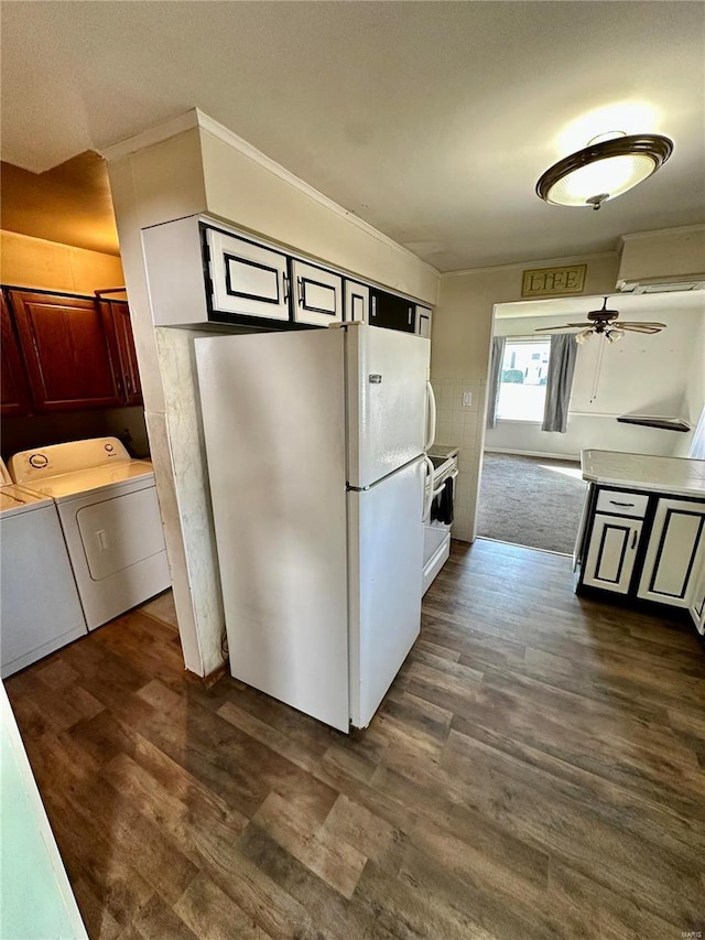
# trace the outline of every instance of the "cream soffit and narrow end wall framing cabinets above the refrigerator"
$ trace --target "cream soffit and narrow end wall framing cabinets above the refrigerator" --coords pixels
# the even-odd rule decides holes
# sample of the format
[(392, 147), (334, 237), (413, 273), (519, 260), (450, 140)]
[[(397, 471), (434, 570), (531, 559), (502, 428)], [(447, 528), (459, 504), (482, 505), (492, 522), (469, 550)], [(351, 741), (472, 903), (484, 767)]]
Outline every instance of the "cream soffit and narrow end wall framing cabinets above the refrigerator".
[(432, 305), (438, 274), (199, 112), (106, 156), (184, 658), (207, 676), (223, 661), (224, 613), (194, 366), (202, 334), (154, 328), (141, 229), (208, 214)]

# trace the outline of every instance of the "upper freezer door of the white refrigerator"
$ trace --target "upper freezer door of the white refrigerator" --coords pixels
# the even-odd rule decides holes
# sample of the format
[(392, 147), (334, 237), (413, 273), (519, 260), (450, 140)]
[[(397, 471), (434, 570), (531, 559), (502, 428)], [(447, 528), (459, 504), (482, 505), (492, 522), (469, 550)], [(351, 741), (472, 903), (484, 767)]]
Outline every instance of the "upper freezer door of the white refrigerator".
[(346, 348), (348, 483), (361, 488), (424, 450), (431, 344), (411, 333), (355, 325)]

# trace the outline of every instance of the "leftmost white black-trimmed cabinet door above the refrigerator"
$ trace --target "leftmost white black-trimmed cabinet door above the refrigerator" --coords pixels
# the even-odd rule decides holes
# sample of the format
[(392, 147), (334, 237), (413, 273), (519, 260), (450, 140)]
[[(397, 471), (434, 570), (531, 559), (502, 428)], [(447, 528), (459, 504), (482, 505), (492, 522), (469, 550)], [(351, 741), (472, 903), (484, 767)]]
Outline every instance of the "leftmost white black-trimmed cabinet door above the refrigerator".
[(206, 230), (206, 244), (214, 310), (289, 320), (285, 255), (213, 228)]

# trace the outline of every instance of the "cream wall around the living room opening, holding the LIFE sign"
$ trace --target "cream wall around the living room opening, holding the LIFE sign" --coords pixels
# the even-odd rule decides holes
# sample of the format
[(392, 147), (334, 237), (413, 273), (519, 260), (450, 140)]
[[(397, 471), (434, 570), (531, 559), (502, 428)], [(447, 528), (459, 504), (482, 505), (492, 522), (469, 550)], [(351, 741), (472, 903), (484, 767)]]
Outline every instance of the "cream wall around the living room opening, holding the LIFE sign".
[[(438, 305), (433, 317), (431, 380), (440, 399), (437, 440), (460, 447), (453, 529), (458, 539), (470, 541), (475, 537), (495, 304), (521, 300), (525, 268), (572, 263), (587, 264), (586, 295), (596, 296), (614, 290), (616, 252), (458, 271), (441, 278)], [(470, 407), (462, 404), (463, 391), (473, 393)]]

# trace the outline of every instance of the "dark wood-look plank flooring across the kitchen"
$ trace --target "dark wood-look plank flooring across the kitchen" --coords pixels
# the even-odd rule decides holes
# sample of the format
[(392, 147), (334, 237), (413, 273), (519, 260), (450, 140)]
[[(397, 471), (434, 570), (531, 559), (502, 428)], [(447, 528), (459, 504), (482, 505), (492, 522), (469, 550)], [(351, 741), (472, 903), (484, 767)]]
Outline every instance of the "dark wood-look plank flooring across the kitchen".
[(91, 938), (705, 930), (705, 655), (456, 544), (366, 732), (186, 679), (143, 612), (7, 682)]

